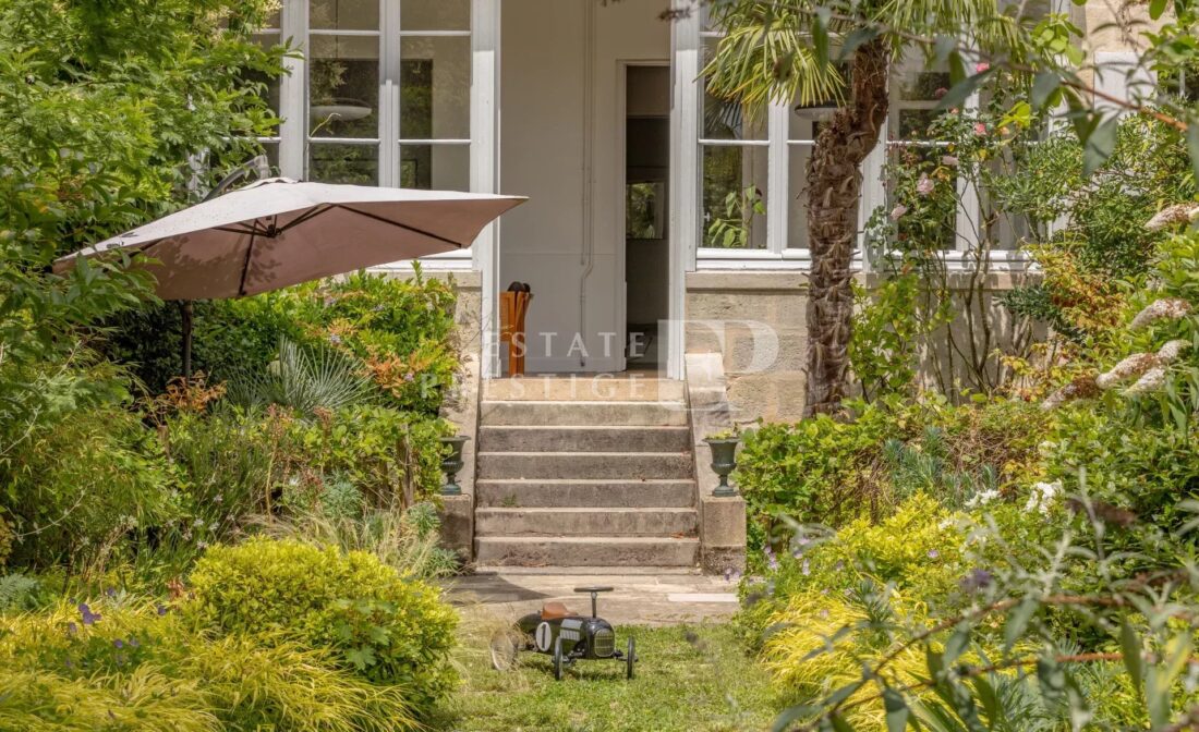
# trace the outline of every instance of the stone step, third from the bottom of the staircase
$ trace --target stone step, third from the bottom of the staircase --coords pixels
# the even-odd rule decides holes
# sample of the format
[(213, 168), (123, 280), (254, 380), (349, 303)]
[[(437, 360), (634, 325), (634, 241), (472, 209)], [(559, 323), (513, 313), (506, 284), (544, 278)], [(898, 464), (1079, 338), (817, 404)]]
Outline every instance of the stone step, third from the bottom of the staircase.
[(478, 480), (478, 508), (688, 508), (694, 480)]

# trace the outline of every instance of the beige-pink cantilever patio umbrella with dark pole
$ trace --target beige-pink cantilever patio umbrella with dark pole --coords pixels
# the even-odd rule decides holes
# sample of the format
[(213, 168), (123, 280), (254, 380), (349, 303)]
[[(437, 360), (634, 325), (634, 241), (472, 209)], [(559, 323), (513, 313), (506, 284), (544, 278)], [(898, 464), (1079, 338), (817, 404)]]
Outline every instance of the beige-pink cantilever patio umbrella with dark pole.
[(125, 250), (134, 255), (133, 266), (155, 274), (163, 300), (245, 297), (469, 247), (483, 226), (524, 201), (267, 179), (64, 256), (54, 268)]

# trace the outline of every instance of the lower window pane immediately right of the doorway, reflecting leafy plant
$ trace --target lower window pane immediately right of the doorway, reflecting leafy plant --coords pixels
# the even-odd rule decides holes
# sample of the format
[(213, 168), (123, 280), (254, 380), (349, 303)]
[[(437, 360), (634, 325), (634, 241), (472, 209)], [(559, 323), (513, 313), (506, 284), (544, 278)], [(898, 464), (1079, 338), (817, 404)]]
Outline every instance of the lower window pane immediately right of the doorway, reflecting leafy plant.
[(766, 248), (766, 147), (704, 146), (705, 247)]

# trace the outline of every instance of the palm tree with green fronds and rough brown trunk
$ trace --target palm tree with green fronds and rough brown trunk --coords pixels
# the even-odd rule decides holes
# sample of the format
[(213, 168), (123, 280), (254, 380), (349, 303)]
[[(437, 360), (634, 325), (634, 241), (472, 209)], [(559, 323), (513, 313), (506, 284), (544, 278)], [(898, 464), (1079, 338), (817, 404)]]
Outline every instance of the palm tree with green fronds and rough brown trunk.
[[(728, 31), (706, 68), (713, 95), (740, 99), (751, 113), (771, 99), (839, 102), (820, 126), (807, 173), (812, 272), (806, 410), (832, 412), (848, 388), (860, 165), (879, 143), (887, 116), (891, 66), (918, 49), (948, 60), (954, 77), (966, 78), (965, 54), (956, 40), (969, 35), (980, 49), (1014, 53), (1018, 23), (996, 0), (719, 0), (712, 12)], [(924, 37), (950, 42), (934, 48)]]

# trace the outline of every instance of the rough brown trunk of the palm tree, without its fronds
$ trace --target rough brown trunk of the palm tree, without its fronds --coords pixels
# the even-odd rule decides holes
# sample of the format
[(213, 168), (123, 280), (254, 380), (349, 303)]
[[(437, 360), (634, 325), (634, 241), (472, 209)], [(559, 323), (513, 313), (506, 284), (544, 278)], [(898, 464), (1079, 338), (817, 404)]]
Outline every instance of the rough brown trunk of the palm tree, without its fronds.
[(854, 52), (851, 91), (817, 135), (808, 162), (807, 416), (836, 412), (849, 387), (854, 294), (849, 267), (857, 238), (861, 163), (887, 116), (890, 49), (875, 38)]

